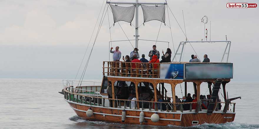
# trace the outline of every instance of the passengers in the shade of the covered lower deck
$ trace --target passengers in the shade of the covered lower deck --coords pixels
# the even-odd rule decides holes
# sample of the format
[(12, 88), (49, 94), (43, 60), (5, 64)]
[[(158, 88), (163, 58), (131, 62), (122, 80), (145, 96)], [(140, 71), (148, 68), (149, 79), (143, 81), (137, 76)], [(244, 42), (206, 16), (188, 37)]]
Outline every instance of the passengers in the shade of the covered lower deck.
[[(135, 108), (135, 101), (137, 100), (136, 98), (136, 91), (135, 91), (135, 85), (134, 83), (132, 83), (132, 86), (128, 86), (125, 81), (119, 81), (118, 86), (114, 86), (114, 95), (116, 99), (124, 99), (124, 100), (132, 100), (132, 101), (127, 101), (127, 103), (125, 103), (127, 105), (127, 107), (131, 106), (132, 109)], [(146, 86), (143, 86), (143, 88), (145, 88)], [(145, 91), (147, 91), (147, 89), (144, 89)], [(109, 81), (108, 82), (108, 86), (107, 86), (107, 95), (108, 98), (112, 98), (112, 83)], [(173, 102), (173, 100), (171, 101), (171, 97), (166, 97), (164, 98), (162, 95), (157, 95), (157, 102), (167, 102), (167, 103), (157, 103), (156, 107), (158, 110), (160, 110), (161, 105), (162, 104), (162, 110), (166, 111), (167, 108), (168, 110), (172, 109), (172, 106), (170, 103)], [(188, 111), (190, 109), (196, 109), (197, 103), (192, 103), (192, 107), (190, 107), (190, 103), (189, 102), (197, 102), (197, 95), (193, 94), (191, 96), (190, 93), (187, 94), (187, 96), (183, 96), (182, 97), (182, 101), (180, 99), (178, 99), (178, 96), (175, 96), (175, 102), (176, 103), (182, 103), (182, 110), (183, 111)], [(200, 95), (200, 99), (203, 100), (201, 103), (201, 109), (207, 109), (209, 106), (209, 101), (206, 101), (207, 99), (210, 99), (210, 95), (207, 95), (207, 97), (205, 95)], [(140, 101), (153, 101), (155, 102), (155, 98), (154, 95), (152, 96), (149, 93), (140, 93), (139, 94), (139, 99)], [(221, 102), (221, 100), (219, 99), (219, 97), (217, 97), (217, 102)], [(112, 107), (112, 100), (109, 100), (109, 105)], [(168, 105), (168, 106), (167, 106)], [(143, 103), (143, 108), (149, 108), (149, 103)], [(176, 104), (176, 110), (181, 110), (180, 109), (180, 104)], [(139, 107), (142, 108), (142, 102), (139, 102)], [(155, 104), (152, 103), (151, 105), (152, 109), (155, 109)], [(221, 105), (219, 103), (218, 109), (221, 109)]]

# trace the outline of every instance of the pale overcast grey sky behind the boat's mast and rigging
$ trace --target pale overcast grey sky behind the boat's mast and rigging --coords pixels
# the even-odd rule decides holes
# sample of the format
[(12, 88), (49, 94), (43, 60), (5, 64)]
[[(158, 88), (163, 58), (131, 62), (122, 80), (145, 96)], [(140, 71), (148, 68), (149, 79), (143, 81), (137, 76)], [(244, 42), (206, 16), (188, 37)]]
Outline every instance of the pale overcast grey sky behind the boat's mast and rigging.
[[(128, 0), (127, 0), (128, 1)], [(133, 0), (134, 1), (134, 0)], [(145, 2), (145, 0), (139, 0)], [(103, 0), (0, 0), (0, 78), (56, 78), (74, 79), (82, 61), (84, 51), (91, 37)], [(154, 1), (152, 1), (154, 2)], [(158, 2), (164, 2), (158, 0)], [(258, 22), (259, 8), (229, 9), (227, 3), (236, 1), (203, 0), (167, 0), (180, 26), (184, 29), (182, 10), (184, 11), (187, 38), (201, 40), (204, 36), (204, 24), (201, 18), (207, 16), (211, 21), (211, 40), (232, 41), (229, 62), (234, 64), (233, 81), (258, 82)], [(256, 3), (258, 0), (238, 1)], [(142, 9), (139, 8), (139, 23), (143, 23)], [(96, 40), (85, 79), (102, 78), (102, 61), (109, 60), (109, 26), (113, 19), (108, 11)], [(171, 22), (173, 42), (178, 46), (185, 40), (182, 30), (172, 14), (167, 16), (166, 24)], [(209, 22), (206, 28), (210, 29)], [(134, 26), (119, 22), (129, 37), (134, 39)], [(99, 24), (99, 21), (98, 21)], [(135, 18), (132, 21), (135, 25)], [(173, 50), (170, 28), (160, 22), (149, 21), (140, 26), (140, 39), (170, 42)], [(97, 26), (98, 27), (98, 26)], [(112, 40), (127, 40), (118, 23), (110, 28)], [(208, 33), (210, 34), (210, 33)], [(94, 36), (96, 30), (94, 31)], [(208, 37), (209, 39), (210, 37)], [(90, 47), (94, 38), (92, 38)], [(140, 41), (140, 54), (148, 54), (155, 42)], [(122, 55), (133, 50), (130, 43), (112, 43), (120, 46)], [(135, 42), (132, 41), (135, 46)], [(226, 43), (192, 44), (198, 56), (207, 54), (212, 62), (220, 62)], [(157, 43), (162, 53), (167, 43)], [(89, 49), (90, 50), (90, 49)], [(88, 57), (89, 50), (86, 57)], [(183, 61), (189, 61), (195, 54), (190, 45), (186, 45)], [(111, 58), (112, 59), (112, 58)], [(84, 60), (83, 65), (86, 60)], [(82, 74), (82, 69), (79, 76)]]

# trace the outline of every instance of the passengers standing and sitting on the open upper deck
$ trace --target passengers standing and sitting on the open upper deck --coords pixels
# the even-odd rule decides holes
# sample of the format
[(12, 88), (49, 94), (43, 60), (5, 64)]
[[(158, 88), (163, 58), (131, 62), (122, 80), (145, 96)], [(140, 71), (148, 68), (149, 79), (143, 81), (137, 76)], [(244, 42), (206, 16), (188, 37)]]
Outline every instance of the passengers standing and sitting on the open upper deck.
[[(119, 46), (115, 47), (115, 50), (112, 50), (113, 47), (110, 49), (110, 53), (113, 53), (113, 61), (120, 61), (121, 58), (121, 52), (119, 51)], [(172, 56), (172, 51), (170, 48), (167, 48), (166, 52), (162, 50), (162, 57), (160, 60), (160, 52), (157, 50), (157, 46), (153, 45), (153, 49), (149, 51), (148, 56), (150, 57), (149, 61), (145, 58), (145, 54), (142, 54), (141, 59), (140, 59), (140, 54), (138, 52), (138, 48), (134, 48), (132, 52), (130, 52), (129, 55), (126, 55), (125, 58), (124, 56), (122, 57), (122, 60), (124, 62), (143, 62), (143, 63), (166, 63), (166, 62), (171, 62), (171, 56)], [(201, 62), (200, 59), (198, 59), (197, 55), (191, 55), (192, 59), (190, 59), (189, 62)], [(210, 59), (208, 58), (208, 55), (205, 54), (203, 56), (204, 60), (202, 62), (210, 62)], [(135, 66), (133, 66), (135, 67)], [(154, 67), (157, 67), (155, 65)]]

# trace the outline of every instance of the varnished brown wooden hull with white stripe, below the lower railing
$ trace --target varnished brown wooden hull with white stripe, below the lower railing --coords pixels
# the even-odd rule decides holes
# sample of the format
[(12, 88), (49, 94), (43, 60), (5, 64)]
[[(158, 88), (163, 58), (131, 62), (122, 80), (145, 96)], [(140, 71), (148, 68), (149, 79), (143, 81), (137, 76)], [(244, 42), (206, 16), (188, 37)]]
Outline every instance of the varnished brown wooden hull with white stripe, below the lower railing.
[[(101, 106), (90, 106), (87, 104), (75, 103), (72, 101), (67, 101), (67, 102), (73, 108), (77, 116), (85, 120), (140, 125), (139, 114), (141, 110), (125, 109), (126, 118), (125, 118), (125, 121), (122, 122), (121, 115), (122, 115), (123, 108), (108, 108), (108, 107), (101, 107)], [(91, 117), (87, 117), (86, 112), (90, 107), (92, 108), (94, 115)], [(160, 120), (158, 122), (152, 122), (150, 118), (152, 114), (155, 113), (155, 111), (144, 110), (143, 112), (145, 114), (145, 120), (142, 123), (142, 125), (157, 125), (157, 126), (175, 125), (175, 126), (187, 127), (187, 126), (203, 124), (203, 123), (220, 124), (220, 123), (226, 123), (226, 122), (233, 122), (235, 118), (235, 113), (232, 113), (232, 112), (227, 112), (226, 114), (222, 114), (222, 112), (220, 111), (215, 111), (211, 115), (207, 115), (207, 112), (205, 111), (200, 111), (198, 114), (195, 114), (194, 111), (183, 112), (183, 113), (157, 111), (160, 117)]]

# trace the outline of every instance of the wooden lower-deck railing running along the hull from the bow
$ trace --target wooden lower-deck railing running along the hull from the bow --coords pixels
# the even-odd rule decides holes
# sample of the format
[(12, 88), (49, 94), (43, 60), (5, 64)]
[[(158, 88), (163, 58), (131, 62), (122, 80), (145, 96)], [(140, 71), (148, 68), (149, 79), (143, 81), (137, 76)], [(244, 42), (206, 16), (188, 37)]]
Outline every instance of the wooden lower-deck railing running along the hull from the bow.
[[(100, 107), (114, 107), (114, 108), (124, 108), (124, 109), (141, 109), (141, 110), (149, 110), (149, 111), (160, 111), (160, 112), (187, 112), (187, 111), (195, 111), (192, 109), (192, 104), (197, 102), (188, 102), (188, 103), (173, 103), (173, 102), (155, 102), (155, 101), (143, 101), (143, 100), (126, 100), (126, 99), (111, 99), (105, 98), (103, 96), (94, 96), (93, 94), (81, 94), (74, 92), (73, 87), (65, 87), (64, 88), (64, 99), (75, 102), (82, 103), (90, 106), (100, 106)], [(81, 90), (81, 89), (80, 89)], [(109, 106), (105, 106), (105, 100), (109, 101)], [(113, 103), (112, 105), (110, 105)], [(131, 102), (134, 101), (134, 107), (132, 107)], [(129, 105), (127, 105), (129, 102)], [(114, 105), (115, 103), (115, 105)], [(214, 111), (218, 110), (218, 103), (225, 102), (217, 102), (217, 106), (215, 106)], [(235, 112), (235, 103), (233, 106), (233, 112)], [(184, 106), (188, 106), (188, 110), (184, 110)], [(200, 103), (201, 106), (201, 103)], [(142, 108), (143, 107), (143, 108)], [(185, 108), (186, 109), (186, 108)], [(200, 107), (200, 111), (202, 108)], [(196, 112), (196, 111), (195, 111)]]

